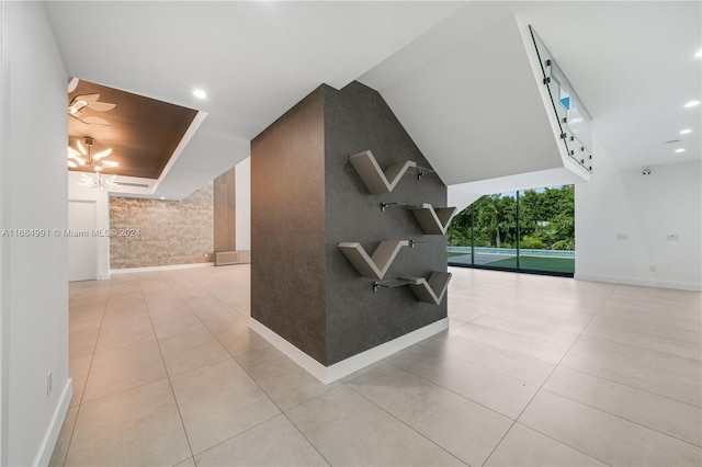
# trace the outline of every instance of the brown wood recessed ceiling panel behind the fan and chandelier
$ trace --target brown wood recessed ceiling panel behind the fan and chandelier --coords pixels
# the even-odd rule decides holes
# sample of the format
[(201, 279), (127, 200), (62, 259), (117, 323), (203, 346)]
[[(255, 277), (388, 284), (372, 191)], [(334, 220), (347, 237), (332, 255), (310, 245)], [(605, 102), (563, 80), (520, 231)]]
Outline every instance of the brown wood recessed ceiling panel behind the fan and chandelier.
[[(120, 163), (115, 169), (105, 169), (105, 174), (158, 179), (197, 111), (83, 80), (68, 94), (68, 103), (77, 95), (92, 93), (100, 93), (99, 102), (116, 106), (107, 112), (86, 107), (83, 116), (99, 116), (110, 125), (90, 125), (69, 116), (69, 146), (76, 148), (76, 140), (84, 144), (86, 137), (91, 137), (93, 155), (112, 148), (105, 159)], [(84, 167), (69, 170), (92, 172)]]

